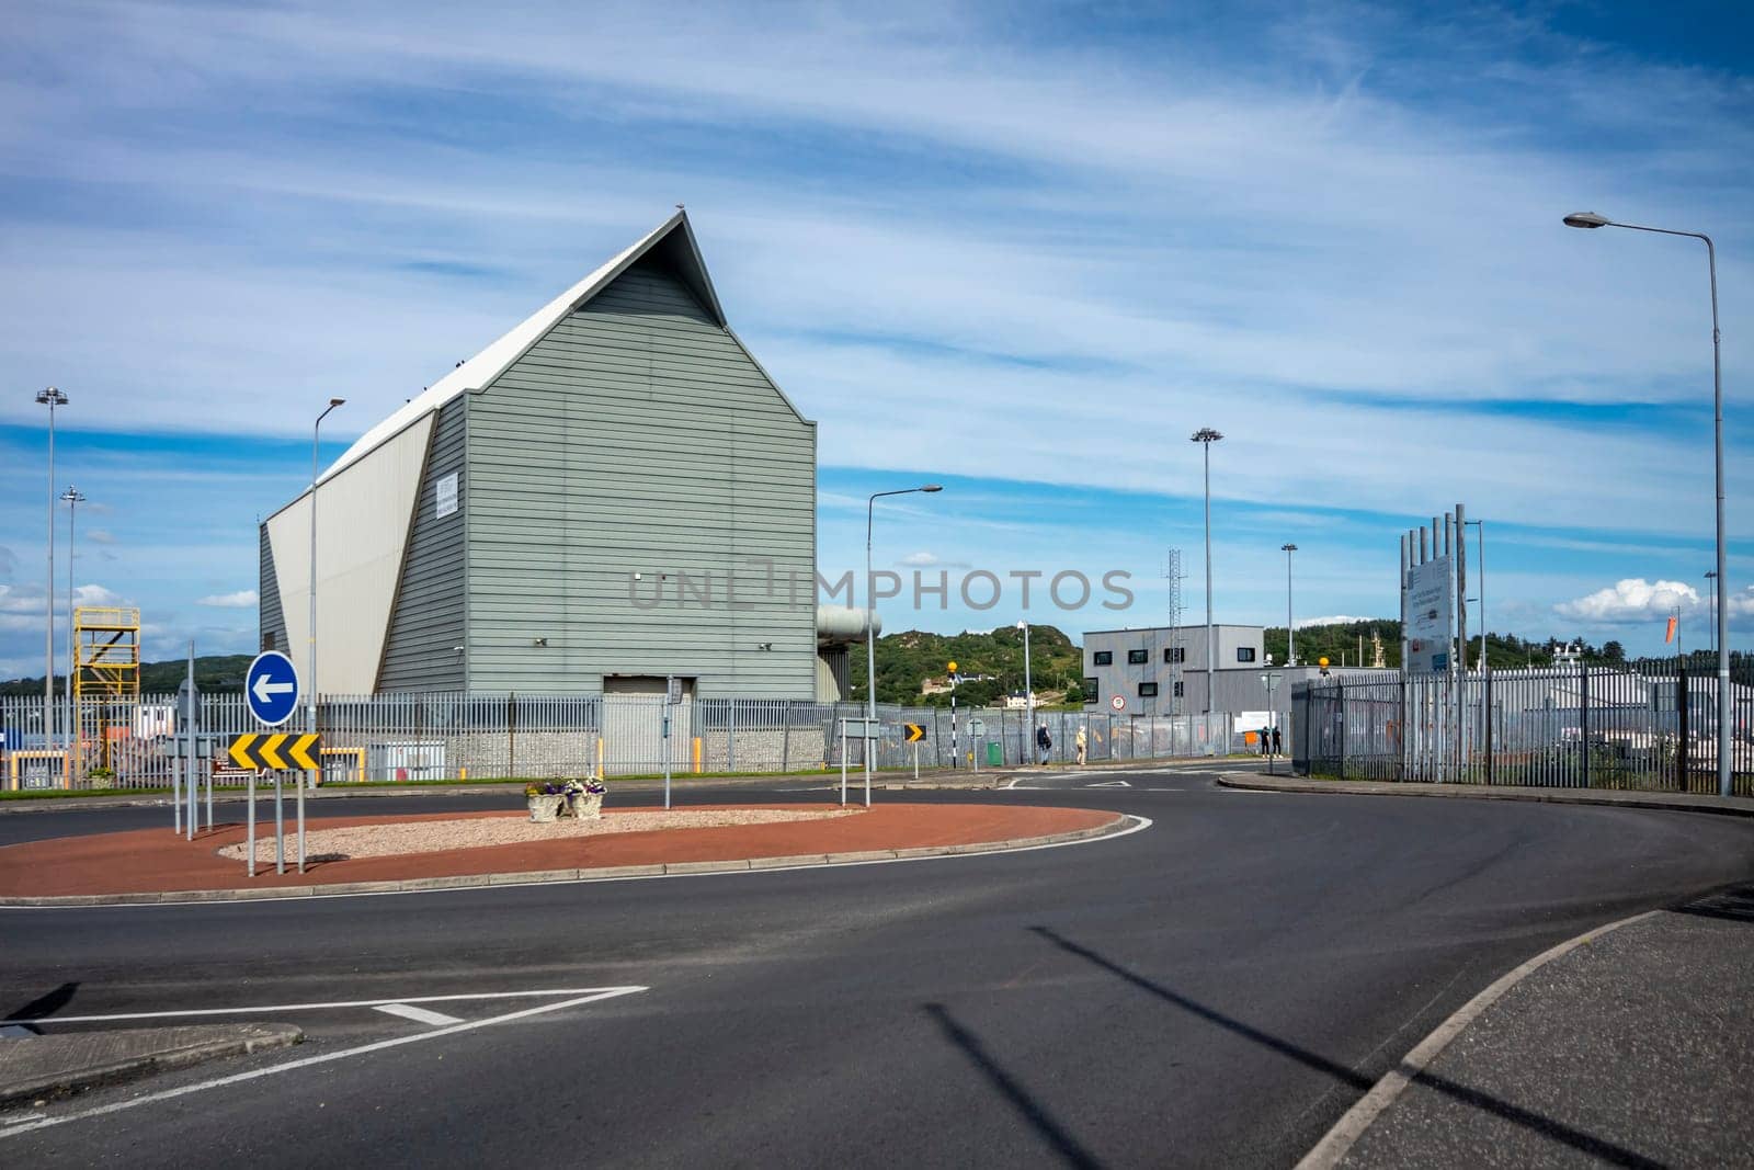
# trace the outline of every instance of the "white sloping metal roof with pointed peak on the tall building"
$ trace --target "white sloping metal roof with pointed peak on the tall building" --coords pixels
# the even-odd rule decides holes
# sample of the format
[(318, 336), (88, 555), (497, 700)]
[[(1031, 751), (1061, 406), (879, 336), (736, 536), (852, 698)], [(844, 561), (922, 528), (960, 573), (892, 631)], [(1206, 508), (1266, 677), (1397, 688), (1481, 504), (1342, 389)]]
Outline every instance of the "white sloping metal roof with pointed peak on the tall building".
[[(584, 305), (588, 300), (596, 296), (603, 288), (609, 286), (617, 275), (626, 272), (640, 256), (652, 251), (660, 244), (665, 244), (672, 233), (681, 233), (681, 247), (672, 253), (672, 260), (682, 270), (682, 279), (689, 288), (705, 302), (707, 312), (710, 312), (719, 325), (724, 325), (724, 312), (719, 309), (717, 293), (712, 289), (712, 281), (707, 275), (707, 267), (700, 258), (700, 247), (695, 244), (695, 232), (688, 225), (688, 212), (677, 209), (674, 216), (665, 219), (661, 225), (652, 228), (649, 233), (635, 240), (609, 263), (591, 272), (565, 293), (551, 300), (549, 303), (537, 309), (533, 314), (519, 321), (500, 337), (496, 342), (477, 353), (474, 358), (456, 367), (435, 384), (428, 386), (423, 393), (405, 402), (395, 412), (389, 414), (382, 423), (372, 430), (360, 435), (358, 442), (347, 447), (339, 460), (328, 465), (328, 468), (317, 475), (317, 482), (340, 474), (349, 465), (360, 461), (391, 437), (398, 435), (416, 419), (437, 410), (444, 403), (451, 402), (461, 393), (470, 389), (482, 389), (500, 374), (503, 374), (517, 358), (524, 354), (531, 346), (535, 346), (542, 337), (547, 335), (556, 325), (567, 319), (567, 316)], [(307, 493), (300, 493), (303, 498)]]

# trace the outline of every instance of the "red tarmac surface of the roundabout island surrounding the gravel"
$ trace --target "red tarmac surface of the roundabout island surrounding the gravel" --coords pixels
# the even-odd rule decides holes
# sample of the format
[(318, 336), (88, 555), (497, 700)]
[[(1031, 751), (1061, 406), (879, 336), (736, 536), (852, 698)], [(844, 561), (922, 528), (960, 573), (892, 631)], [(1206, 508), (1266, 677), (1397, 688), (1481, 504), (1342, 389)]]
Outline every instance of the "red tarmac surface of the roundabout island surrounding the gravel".
[[(823, 809), (823, 805), (749, 805), (754, 809)], [(642, 809), (649, 810), (649, 809)], [(628, 809), (633, 812), (633, 809)], [(458, 821), (467, 817), (524, 816), (523, 812), (438, 812), (426, 816), (323, 817), (316, 828), (353, 824), (405, 824), (410, 821)], [(616, 816), (605, 810), (603, 816)], [(217, 856), (217, 849), (244, 842), (242, 824), (219, 824), (210, 833), (184, 840), (167, 828), (128, 833), (56, 837), (0, 847), (0, 898), (51, 898), (81, 895), (163, 893), (181, 889), (239, 889), (270, 886), (328, 886), (337, 882), (409, 881), (472, 874), (516, 874), (570, 868), (609, 868), (681, 861), (737, 861), (803, 854), (861, 853), (870, 849), (919, 849), (935, 845), (998, 844), (1026, 837), (1049, 837), (1093, 830), (1116, 821), (1114, 812), (1091, 809), (1023, 809), (1014, 805), (873, 805), (856, 816), (781, 824), (737, 824), (723, 828), (658, 830), (570, 837), (514, 845), (484, 845), (446, 853), (416, 853), (393, 858), (358, 858), (307, 863), (298, 874), (295, 826), (288, 823), (288, 872), (270, 863), (254, 879), (242, 861)], [(256, 837), (274, 833), (256, 824)]]

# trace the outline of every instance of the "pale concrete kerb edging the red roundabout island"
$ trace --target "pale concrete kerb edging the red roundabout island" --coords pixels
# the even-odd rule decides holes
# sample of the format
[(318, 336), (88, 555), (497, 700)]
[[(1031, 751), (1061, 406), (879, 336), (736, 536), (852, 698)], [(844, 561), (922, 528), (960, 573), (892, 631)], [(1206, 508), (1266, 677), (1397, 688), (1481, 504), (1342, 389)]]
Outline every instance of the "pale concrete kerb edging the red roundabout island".
[(870, 861), (917, 861), (923, 858), (949, 858), (972, 853), (1009, 853), (1042, 845), (1066, 845), (1077, 840), (1109, 837), (1128, 828), (1131, 817), (1116, 814), (1107, 824), (1049, 833), (1045, 837), (1016, 837), (966, 845), (923, 845), (917, 849), (865, 849), (858, 853), (805, 853), (784, 858), (735, 858), (724, 861), (667, 861), (663, 865), (616, 865), (581, 870), (530, 870), (507, 874), (460, 874), (454, 877), (409, 877), (381, 882), (333, 882), (326, 886), (263, 886), (260, 889), (172, 889), (126, 895), (67, 895), (0, 898), (0, 909), (49, 909), (88, 905), (172, 905), (186, 902), (256, 902), (265, 898), (324, 898), (339, 895), (423, 893), (430, 889), (460, 889), (472, 886), (540, 886), (558, 882), (619, 881), (626, 877), (670, 877), (682, 874), (724, 874), (747, 870), (800, 868), (809, 865), (865, 865)]

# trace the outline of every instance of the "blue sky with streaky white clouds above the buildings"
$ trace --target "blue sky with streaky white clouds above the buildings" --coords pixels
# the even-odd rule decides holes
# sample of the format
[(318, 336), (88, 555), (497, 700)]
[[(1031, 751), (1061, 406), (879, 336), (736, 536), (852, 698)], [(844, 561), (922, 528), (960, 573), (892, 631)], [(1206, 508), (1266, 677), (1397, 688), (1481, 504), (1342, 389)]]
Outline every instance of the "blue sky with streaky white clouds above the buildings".
[[(1745, 5), (16, 4), (0, 44), (0, 677), (40, 672), (44, 410), (86, 600), (254, 640), (254, 519), (686, 202), (821, 424), (819, 558), (1100, 577), (1221, 621), (1391, 616), (1487, 521), (1494, 630), (1703, 640), (1714, 233), (1733, 644), (1754, 633)], [(63, 533), (65, 533), (65, 510)], [(65, 535), (63, 535), (65, 539)], [(1673, 582), (1673, 584), (1665, 584)], [(56, 591), (65, 589), (65, 563)], [(1014, 621), (886, 607), (889, 628)]]

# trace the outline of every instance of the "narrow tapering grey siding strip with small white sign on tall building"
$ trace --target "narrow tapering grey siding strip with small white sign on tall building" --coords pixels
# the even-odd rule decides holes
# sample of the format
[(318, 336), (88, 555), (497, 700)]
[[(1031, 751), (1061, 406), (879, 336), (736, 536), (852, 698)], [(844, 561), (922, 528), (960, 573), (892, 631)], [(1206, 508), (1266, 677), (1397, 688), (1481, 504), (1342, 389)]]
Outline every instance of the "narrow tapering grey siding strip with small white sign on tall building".
[[(465, 410), (468, 396), (438, 409), (414, 503), (414, 530), (402, 561), (396, 603), (384, 642), (379, 691), (461, 691), (463, 654), (463, 549), (468, 510)], [(438, 517), (438, 481), (456, 475), (458, 510)]]

